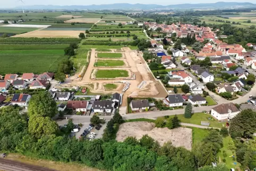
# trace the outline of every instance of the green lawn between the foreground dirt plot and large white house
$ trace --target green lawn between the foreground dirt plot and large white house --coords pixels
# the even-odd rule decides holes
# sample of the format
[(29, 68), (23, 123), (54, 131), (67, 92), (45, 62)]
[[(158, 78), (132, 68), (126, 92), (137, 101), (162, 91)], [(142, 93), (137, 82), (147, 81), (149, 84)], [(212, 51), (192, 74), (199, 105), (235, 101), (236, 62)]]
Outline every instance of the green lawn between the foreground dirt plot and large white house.
[[(174, 115), (170, 117), (174, 117)], [(201, 121), (206, 121), (210, 123), (210, 127), (219, 127), (219, 128), (223, 127), (223, 124), (225, 125), (225, 123), (219, 123), (218, 121), (216, 121), (214, 118), (211, 117), (210, 114), (194, 113), (191, 118), (185, 118), (184, 115), (177, 115), (177, 117), (183, 123), (201, 125)], [(211, 120), (209, 120), (208, 117), (210, 117)]]

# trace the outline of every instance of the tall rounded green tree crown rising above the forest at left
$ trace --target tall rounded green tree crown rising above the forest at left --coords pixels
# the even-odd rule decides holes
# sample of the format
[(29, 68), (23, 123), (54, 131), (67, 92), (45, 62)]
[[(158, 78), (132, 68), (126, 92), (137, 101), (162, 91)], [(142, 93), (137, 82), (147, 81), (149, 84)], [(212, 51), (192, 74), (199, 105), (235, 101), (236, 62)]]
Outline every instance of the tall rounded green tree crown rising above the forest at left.
[(48, 92), (40, 92), (33, 95), (29, 101), (28, 115), (42, 117), (54, 117), (57, 114), (56, 101), (50, 96)]

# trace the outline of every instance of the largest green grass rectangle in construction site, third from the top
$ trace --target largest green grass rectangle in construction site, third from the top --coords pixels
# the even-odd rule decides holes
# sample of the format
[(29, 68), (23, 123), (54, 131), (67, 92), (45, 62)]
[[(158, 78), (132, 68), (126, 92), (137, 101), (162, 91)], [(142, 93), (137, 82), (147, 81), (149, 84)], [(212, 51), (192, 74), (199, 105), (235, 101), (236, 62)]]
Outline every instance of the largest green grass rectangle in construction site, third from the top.
[(98, 70), (96, 73), (96, 78), (104, 79), (104, 78), (118, 78), (118, 77), (127, 77), (128, 72), (125, 70)]

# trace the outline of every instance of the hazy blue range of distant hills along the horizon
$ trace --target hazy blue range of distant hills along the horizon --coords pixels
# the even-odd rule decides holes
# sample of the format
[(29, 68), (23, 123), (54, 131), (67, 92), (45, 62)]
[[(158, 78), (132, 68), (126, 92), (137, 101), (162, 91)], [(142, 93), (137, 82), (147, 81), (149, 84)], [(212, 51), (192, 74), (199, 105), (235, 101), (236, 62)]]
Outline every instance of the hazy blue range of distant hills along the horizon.
[[(151, 10), (151, 9), (223, 9), (223, 8), (241, 8), (241, 7), (256, 7), (253, 3), (237, 3), (237, 2), (217, 2), (209, 4), (178, 4), (178, 5), (156, 5), (156, 4), (103, 4), (103, 5), (32, 5), (24, 6), (28, 10)], [(20, 9), (21, 6), (15, 7)]]

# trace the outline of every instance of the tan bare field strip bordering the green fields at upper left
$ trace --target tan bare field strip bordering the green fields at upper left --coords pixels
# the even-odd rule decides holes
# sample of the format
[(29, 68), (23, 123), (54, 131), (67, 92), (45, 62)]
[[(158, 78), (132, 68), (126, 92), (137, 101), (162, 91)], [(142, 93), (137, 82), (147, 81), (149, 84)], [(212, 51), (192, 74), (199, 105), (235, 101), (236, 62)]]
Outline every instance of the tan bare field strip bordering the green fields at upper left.
[(52, 37), (64, 37), (64, 38), (78, 38), (79, 33), (83, 31), (54, 31), (54, 30), (35, 30), (27, 32), (21, 35), (15, 35), (13, 37), (38, 37), (38, 38), (52, 38)]

